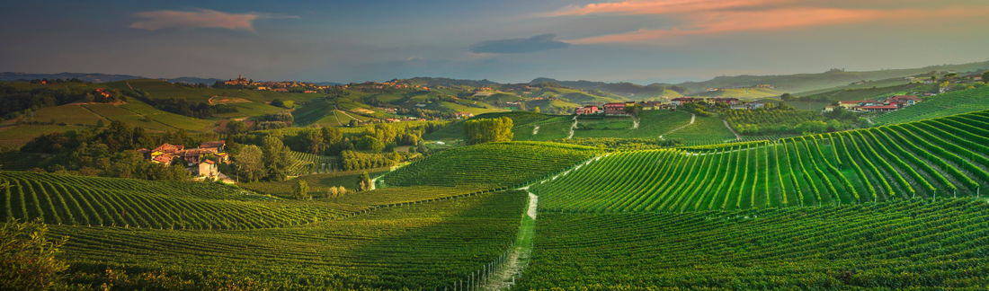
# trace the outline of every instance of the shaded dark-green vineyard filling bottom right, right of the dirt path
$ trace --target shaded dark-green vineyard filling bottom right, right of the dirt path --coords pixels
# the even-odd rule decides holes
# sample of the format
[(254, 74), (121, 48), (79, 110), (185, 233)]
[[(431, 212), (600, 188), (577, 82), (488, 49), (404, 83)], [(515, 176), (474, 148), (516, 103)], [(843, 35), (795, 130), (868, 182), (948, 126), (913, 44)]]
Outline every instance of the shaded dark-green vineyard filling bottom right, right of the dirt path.
[[(540, 197), (540, 199), (542, 199)], [(978, 199), (540, 213), (522, 290), (944, 290), (989, 284)]]

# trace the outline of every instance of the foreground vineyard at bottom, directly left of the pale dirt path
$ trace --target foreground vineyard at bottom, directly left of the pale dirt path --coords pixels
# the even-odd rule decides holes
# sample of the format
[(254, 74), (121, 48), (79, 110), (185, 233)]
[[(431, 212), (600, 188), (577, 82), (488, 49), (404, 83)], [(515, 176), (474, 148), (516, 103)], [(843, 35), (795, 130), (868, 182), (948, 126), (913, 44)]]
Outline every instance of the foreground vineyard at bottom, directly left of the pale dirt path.
[[(261, 230), (51, 230), (71, 238), (64, 248), (70, 282), (94, 288), (168, 290), (179, 285), (153, 279), (195, 285), (224, 276), (223, 287), (256, 284), (252, 290), (443, 290), (511, 247), (526, 201), (525, 192), (507, 191)], [(111, 272), (149, 279), (128, 285)]]

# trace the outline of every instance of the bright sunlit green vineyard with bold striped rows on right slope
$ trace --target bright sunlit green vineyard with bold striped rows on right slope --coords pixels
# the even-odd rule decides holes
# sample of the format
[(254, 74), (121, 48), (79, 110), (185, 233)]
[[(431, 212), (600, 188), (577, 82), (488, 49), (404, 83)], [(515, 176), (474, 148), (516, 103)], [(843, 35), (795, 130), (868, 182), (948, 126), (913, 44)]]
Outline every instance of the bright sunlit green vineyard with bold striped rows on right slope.
[(534, 185), (544, 211), (690, 212), (980, 196), (989, 112), (775, 142), (617, 152)]

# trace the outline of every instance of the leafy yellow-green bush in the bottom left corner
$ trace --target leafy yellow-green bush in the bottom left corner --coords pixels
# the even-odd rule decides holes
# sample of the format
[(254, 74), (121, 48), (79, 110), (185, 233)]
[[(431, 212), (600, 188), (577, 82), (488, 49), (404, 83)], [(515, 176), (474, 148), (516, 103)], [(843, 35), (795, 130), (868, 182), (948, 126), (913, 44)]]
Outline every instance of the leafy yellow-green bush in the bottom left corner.
[(59, 281), (58, 272), (68, 264), (55, 259), (68, 237), (47, 240), (48, 227), (41, 219), (0, 227), (0, 289), (48, 290)]

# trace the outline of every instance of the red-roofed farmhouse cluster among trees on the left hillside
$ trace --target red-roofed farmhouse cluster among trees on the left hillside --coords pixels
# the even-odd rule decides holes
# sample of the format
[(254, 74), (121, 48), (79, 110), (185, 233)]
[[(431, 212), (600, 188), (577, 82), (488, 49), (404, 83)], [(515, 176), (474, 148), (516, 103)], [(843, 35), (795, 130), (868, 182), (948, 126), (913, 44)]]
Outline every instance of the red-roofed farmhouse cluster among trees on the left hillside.
[(144, 155), (144, 159), (166, 167), (171, 166), (175, 158), (181, 158), (186, 166), (192, 167), (187, 171), (193, 175), (217, 178), (220, 176), (220, 171), (217, 169), (216, 162), (206, 158), (212, 155), (217, 157), (221, 163), (228, 162), (229, 155), (224, 152), (225, 145), (226, 142), (223, 140), (208, 141), (200, 144), (198, 148), (186, 149), (183, 145), (164, 143), (153, 150), (139, 149), (137, 152)]

